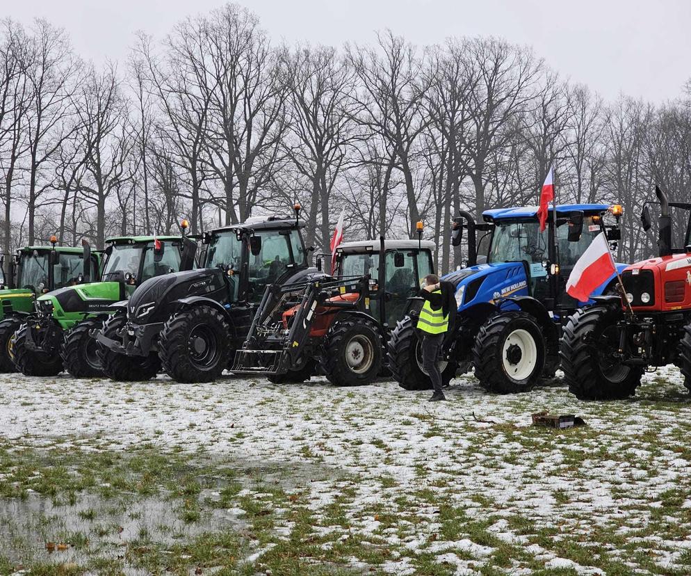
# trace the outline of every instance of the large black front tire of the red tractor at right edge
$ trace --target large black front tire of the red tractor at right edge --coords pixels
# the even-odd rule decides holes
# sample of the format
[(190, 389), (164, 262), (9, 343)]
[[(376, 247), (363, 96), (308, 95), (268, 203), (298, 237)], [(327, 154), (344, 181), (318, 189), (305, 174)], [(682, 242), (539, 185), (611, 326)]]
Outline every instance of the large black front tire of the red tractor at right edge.
[(594, 305), (578, 310), (562, 330), (560, 358), (569, 391), (581, 400), (612, 400), (633, 396), (644, 369), (615, 358), (619, 349), (619, 305)]

